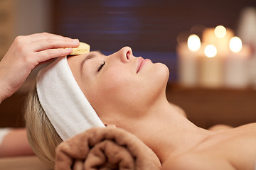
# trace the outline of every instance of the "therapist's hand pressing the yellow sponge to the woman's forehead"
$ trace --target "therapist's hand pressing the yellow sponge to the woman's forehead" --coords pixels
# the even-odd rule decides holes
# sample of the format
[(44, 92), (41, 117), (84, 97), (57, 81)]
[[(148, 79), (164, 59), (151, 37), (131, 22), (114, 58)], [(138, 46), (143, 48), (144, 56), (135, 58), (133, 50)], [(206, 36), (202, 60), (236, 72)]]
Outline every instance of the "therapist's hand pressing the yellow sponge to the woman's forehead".
[(18, 90), (40, 62), (69, 55), (70, 47), (78, 46), (77, 39), (50, 33), (18, 36), (0, 62), (0, 103)]

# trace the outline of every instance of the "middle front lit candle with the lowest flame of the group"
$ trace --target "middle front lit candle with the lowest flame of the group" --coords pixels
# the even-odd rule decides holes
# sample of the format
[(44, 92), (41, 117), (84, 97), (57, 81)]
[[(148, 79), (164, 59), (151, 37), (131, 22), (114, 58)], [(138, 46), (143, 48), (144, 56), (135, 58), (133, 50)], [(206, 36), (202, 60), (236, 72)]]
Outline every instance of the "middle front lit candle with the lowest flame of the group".
[(205, 56), (201, 57), (200, 85), (208, 88), (217, 88), (223, 84), (223, 62), (218, 56), (214, 45), (207, 45)]

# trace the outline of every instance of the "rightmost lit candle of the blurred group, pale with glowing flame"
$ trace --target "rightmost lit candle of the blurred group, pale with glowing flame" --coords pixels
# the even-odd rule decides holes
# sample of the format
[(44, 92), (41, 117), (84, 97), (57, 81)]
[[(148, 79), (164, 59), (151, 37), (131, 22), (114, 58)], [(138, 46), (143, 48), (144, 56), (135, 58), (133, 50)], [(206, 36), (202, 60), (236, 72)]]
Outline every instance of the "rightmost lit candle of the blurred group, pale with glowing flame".
[(242, 40), (233, 37), (229, 43), (230, 53), (225, 60), (225, 86), (246, 88), (249, 84), (250, 48), (242, 45)]

